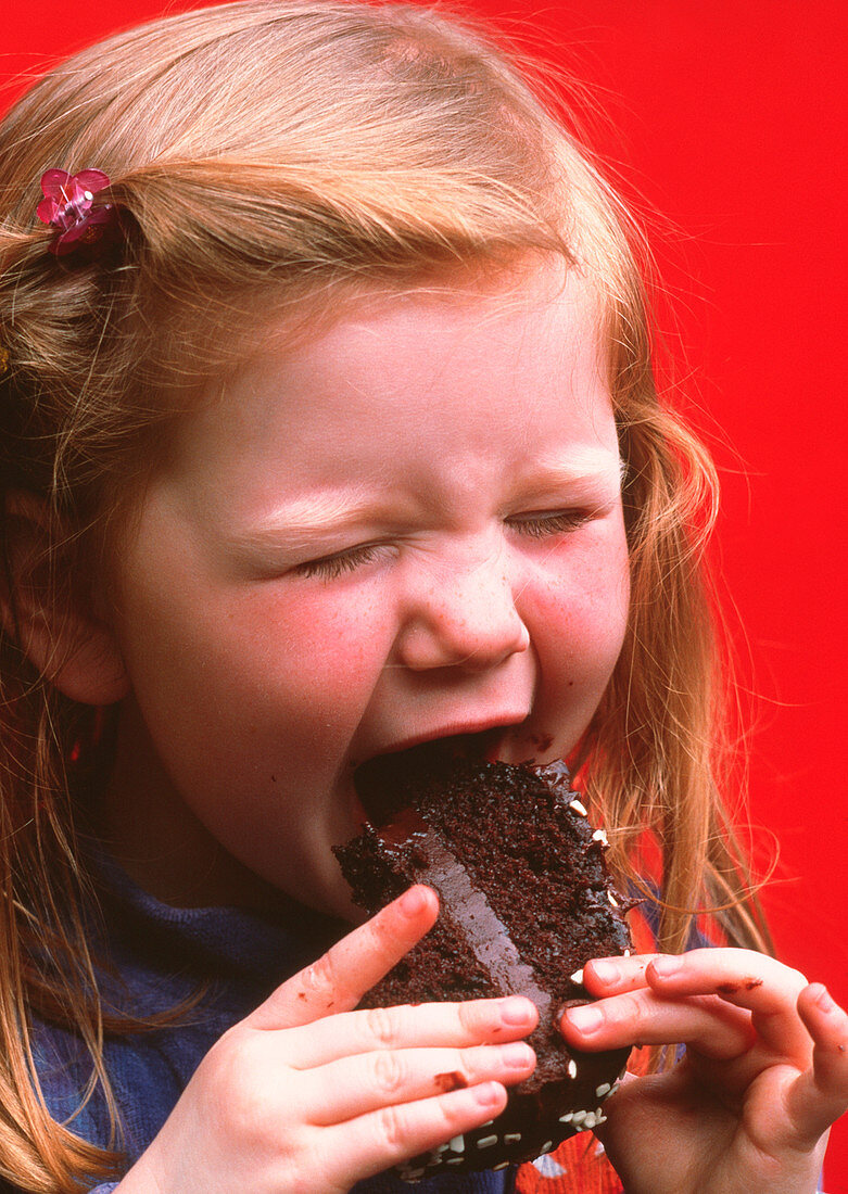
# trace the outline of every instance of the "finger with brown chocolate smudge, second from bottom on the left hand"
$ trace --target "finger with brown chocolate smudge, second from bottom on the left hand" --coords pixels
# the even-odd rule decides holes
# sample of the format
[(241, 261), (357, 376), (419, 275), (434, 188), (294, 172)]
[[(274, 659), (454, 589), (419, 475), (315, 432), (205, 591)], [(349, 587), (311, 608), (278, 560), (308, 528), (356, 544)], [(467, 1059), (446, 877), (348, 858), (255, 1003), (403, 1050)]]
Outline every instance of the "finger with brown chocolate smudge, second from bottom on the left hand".
[[(430, 1098), (483, 1082), (512, 1085), (528, 1078), (536, 1054), (523, 1041), (467, 1050), (377, 1050), (345, 1057), (303, 1076), (302, 1106), (309, 1121), (328, 1127), (393, 1103)], [(333, 1091), (332, 1108), (326, 1091)]]

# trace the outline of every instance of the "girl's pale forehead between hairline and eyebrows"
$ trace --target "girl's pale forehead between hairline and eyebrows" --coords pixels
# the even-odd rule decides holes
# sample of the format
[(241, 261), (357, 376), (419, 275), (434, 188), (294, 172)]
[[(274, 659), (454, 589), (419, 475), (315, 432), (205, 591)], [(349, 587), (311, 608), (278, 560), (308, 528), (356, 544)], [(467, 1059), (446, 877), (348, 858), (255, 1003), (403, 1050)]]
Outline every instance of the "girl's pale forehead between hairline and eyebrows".
[(598, 414), (608, 439), (598, 322), (595, 293), (561, 266), (371, 288), (294, 336), (283, 313), (185, 421), (179, 460), (385, 469), (401, 441), (429, 436), (449, 454), (459, 427), (520, 442), (534, 421), (543, 435)]

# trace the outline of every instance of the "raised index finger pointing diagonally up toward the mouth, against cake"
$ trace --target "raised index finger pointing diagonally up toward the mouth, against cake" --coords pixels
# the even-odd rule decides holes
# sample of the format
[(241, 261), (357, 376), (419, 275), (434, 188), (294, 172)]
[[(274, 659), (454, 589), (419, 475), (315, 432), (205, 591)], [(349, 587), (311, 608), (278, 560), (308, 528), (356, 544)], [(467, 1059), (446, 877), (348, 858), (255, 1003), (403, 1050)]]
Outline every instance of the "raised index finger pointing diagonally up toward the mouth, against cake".
[(247, 1022), (253, 1028), (289, 1028), (355, 1008), (432, 928), (437, 916), (436, 893), (420, 885), (411, 887), (277, 987)]

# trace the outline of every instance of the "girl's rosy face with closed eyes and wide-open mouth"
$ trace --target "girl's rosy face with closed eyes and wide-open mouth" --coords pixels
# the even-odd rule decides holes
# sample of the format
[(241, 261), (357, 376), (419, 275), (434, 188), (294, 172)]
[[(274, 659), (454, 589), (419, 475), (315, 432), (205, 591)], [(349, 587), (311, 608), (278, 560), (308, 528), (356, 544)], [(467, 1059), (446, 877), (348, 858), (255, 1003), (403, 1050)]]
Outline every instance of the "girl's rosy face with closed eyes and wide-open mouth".
[(357, 763), (574, 746), (628, 601), (595, 324), (573, 272), (370, 296), (306, 346), (269, 336), (188, 420), (118, 577), (110, 801), (142, 881), (195, 901), (220, 843), (344, 913)]

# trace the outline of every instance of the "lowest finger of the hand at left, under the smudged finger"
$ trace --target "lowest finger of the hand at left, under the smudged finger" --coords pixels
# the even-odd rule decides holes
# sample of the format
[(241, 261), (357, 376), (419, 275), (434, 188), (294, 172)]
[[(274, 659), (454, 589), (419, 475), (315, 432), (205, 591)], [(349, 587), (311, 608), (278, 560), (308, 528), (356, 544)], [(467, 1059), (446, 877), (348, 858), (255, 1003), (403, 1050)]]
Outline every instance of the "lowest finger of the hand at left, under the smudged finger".
[[(348, 1124), (321, 1128), (321, 1147), (344, 1158), (350, 1184), (399, 1162), (438, 1149), (472, 1128), (496, 1119), (506, 1106), (506, 1090), (484, 1082), (432, 1098), (383, 1107)], [(455, 1153), (463, 1141), (455, 1140)], [(413, 1175), (410, 1175), (413, 1176)], [(423, 1171), (414, 1176), (423, 1176)]]

